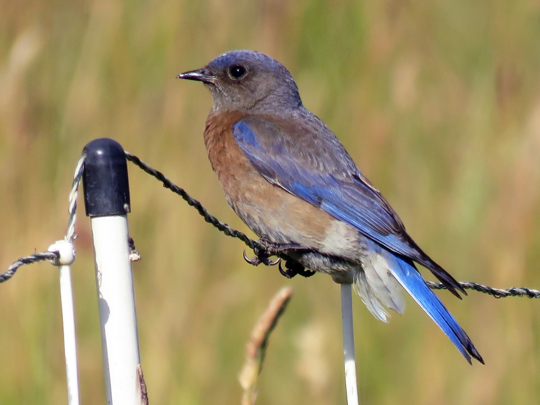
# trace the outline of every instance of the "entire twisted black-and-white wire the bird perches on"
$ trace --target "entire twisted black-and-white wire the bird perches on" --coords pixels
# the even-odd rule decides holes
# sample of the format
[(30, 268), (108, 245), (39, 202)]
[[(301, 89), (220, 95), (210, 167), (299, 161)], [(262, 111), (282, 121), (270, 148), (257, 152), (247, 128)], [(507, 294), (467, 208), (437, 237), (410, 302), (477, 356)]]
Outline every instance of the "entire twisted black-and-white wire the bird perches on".
[[(220, 220), (215, 218), (210, 212), (206, 210), (206, 208), (199, 201), (191, 197), (191, 195), (188, 194), (183, 188), (174, 184), (163, 173), (147, 165), (142, 160), (140, 160), (137, 156), (134, 156), (133, 154), (127, 151), (124, 151), (124, 153), (127, 160), (131, 161), (134, 165), (138, 166), (144, 172), (150, 174), (150, 176), (161, 181), (161, 183), (163, 184), (163, 187), (168, 188), (173, 193), (180, 195), (180, 197), (182, 197), (188, 205), (194, 207), (195, 210), (197, 210), (197, 212), (205, 219), (206, 222), (209, 222), (210, 224), (212, 224), (219, 231), (221, 231), (227, 236), (240, 239), (242, 242), (246, 244), (246, 246), (248, 246), (251, 249), (254, 249), (254, 250), (257, 249), (261, 252), (268, 252), (269, 250), (268, 246), (266, 246), (265, 244), (262, 244), (259, 241), (249, 238), (245, 233), (237, 231), (234, 228), (231, 228), (230, 226), (225, 224), (224, 222), (221, 222)], [(68, 229), (66, 231), (64, 240), (70, 243), (73, 242), (77, 238), (77, 234), (75, 233), (75, 221), (77, 218), (77, 215), (76, 215), (77, 195), (78, 195), (80, 181), (82, 180), (82, 177), (83, 177), (84, 159), (85, 159), (85, 155), (83, 154), (83, 156), (81, 156), (79, 161), (77, 162), (77, 166), (75, 168), (75, 174), (73, 175), (73, 183), (71, 187), (71, 192), (69, 195), (69, 208), (68, 208), (69, 220), (68, 220)], [(133, 251), (134, 251), (134, 246), (133, 246)], [(272, 253), (272, 252), (269, 252), (269, 253)], [(58, 252), (50, 252), (50, 251), (35, 253), (30, 256), (20, 258), (14, 263), (12, 263), (11, 266), (9, 266), (8, 271), (0, 274), (0, 284), (11, 279), (12, 276), (14, 276), (15, 273), (17, 272), (17, 269), (21, 267), (22, 265), (32, 264), (32, 263), (35, 263), (37, 261), (42, 261), (42, 260), (55, 260), (58, 258), (59, 258)], [(431, 289), (447, 289), (440, 282), (427, 281), (427, 285)], [(501, 288), (493, 288), (493, 287), (485, 286), (485, 285), (478, 284), (471, 281), (461, 281), (460, 285), (464, 289), (472, 289), (474, 291), (492, 295), (495, 298), (505, 298), (508, 296), (527, 296), (528, 298), (540, 298), (540, 291), (536, 289), (527, 288), (527, 287), (521, 287), (521, 288), (511, 287), (507, 289), (501, 289)]]

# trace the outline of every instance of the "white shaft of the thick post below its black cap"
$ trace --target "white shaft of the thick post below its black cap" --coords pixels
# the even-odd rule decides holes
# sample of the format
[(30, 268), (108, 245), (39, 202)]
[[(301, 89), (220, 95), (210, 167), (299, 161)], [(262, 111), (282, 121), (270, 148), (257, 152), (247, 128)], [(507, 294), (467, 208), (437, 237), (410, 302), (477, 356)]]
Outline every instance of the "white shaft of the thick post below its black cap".
[(140, 404), (140, 363), (127, 215), (92, 217), (107, 403)]

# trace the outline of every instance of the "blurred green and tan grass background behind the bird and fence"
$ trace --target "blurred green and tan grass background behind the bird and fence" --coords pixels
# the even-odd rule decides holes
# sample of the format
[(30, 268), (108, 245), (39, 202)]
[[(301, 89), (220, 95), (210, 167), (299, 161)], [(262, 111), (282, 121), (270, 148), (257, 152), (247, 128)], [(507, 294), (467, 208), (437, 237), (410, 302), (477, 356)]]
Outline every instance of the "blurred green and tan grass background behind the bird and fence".
[[(458, 280), (540, 287), (540, 2), (0, 0), (0, 265), (62, 237), (83, 146), (112, 137), (240, 230), (206, 158), (211, 97), (177, 73), (231, 49), (292, 72), (409, 232)], [(339, 287), (251, 267), (244, 246), (130, 164), (141, 360), (153, 404), (235, 404), (249, 332), (282, 285), (259, 404), (345, 403)], [(82, 207), (82, 206), (81, 206)], [(93, 251), (73, 267), (84, 404), (104, 403)], [(65, 403), (58, 276), (0, 286), (0, 403)], [(486, 365), (470, 367), (408, 299), (384, 324), (360, 299), (363, 404), (540, 397), (540, 303), (438, 293)]]

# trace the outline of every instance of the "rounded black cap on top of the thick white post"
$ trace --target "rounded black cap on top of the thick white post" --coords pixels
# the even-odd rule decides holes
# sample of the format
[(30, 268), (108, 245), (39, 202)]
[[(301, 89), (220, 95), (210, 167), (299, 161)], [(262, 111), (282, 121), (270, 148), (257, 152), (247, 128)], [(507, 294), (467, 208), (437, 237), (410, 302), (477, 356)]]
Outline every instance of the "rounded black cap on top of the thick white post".
[(83, 149), (86, 215), (118, 215), (131, 211), (124, 148), (116, 140), (94, 139)]

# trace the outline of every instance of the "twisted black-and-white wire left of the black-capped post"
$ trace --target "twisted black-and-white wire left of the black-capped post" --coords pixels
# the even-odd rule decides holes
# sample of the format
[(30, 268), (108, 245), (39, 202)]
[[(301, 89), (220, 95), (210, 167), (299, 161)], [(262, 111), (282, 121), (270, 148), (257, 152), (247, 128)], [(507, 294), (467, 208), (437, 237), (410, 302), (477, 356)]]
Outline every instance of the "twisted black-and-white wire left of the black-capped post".
[[(69, 219), (68, 219), (68, 229), (66, 230), (66, 234), (64, 236), (64, 240), (66, 242), (72, 243), (76, 238), (77, 234), (75, 233), (75, 221), (77, 219), (77, 196), (78, 196), (78, 190), (80, 181), (83, 178), (83, 171), (84, 171), (84, 159), (85, 154), (80, 157), (79, 161), (77, 162), (77, 166), (75, 168), (75, 174), (73, 174), (73, 183), (71, 184), (71, 192), (69, 193), (69, 206), (68, 206), (68, 213), (69, 213)], [(34, 253), (30, 256), (25, 256), (23, 258), (18, 259), (17, 261), (13, 262), (11, 266), (8, 267), (8, 271), (5, 273), (0, 274), (0, 284), (10, 280), (19, 267), (22, 265), (29, 265), (38, 261), (43, 260), (57, 260), (60, 258), (60, 253), (55, 251), (46, 251), (46, 252), (40, 252), (40, 253)]]

